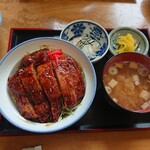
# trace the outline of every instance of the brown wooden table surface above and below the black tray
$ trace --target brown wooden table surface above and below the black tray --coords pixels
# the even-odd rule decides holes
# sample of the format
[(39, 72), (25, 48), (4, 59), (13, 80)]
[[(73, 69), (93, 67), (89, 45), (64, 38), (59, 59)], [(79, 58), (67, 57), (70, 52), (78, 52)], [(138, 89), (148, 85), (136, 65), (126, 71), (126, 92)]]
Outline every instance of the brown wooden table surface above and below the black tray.
[[(7, 52), (10, 28), (62, 29), (76, 19), (105, 28), (150, 26), (150, 0), (0, 0), (0, 11), (0, 59)], [(0, 137), (0, 150), (36, 145), (43, 150), (149, 150), (150, 130)]]

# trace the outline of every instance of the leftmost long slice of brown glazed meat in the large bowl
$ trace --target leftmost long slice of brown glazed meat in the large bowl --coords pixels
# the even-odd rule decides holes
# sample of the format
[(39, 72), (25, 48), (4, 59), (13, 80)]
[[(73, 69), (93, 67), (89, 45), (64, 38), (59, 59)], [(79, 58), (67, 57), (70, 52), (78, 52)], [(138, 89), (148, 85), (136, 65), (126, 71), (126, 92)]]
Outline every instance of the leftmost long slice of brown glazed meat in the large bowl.
[(37, 119), (38, 116), (33, 106), (30, 104), (28, 96), (23, 88), (23, 85), (18, 75), (15, 74), (12, 77), (9, 77), (8, 87), (20, 114), (24, 118), (29, 120)]

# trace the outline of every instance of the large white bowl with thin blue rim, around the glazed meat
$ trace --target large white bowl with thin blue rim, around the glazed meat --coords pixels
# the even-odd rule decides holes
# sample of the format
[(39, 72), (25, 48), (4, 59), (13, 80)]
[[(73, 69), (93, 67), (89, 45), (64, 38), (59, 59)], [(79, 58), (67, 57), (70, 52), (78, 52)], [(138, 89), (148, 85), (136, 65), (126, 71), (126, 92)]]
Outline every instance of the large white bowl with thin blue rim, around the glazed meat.
[[(77, 107), (73, 114), (59, 120), (56, 123), (37, 123), (26, 120), (20, 115), (8, 93), (8, 77), (18, 66), (19, 61), (25, 53), (31, 53), (39, 50), (40, 46), (43, 45), (48, 45), (50, 48), (54, 49), (61, 48), (64, 53), (72, 56), (81, 65), (85, 74), (86, 91), (81, 104)], [(69, 42), (48, 37), (35, 38), (25, 41), (9, 51), (0, 61), (0, 83), (0, 111), (2, 115), (13, 125), (23, 130), (38, 133), (56, 132), (77, 122), (91, 106), (95, 96), (97, 84), (94, 67), (82, 51)]]

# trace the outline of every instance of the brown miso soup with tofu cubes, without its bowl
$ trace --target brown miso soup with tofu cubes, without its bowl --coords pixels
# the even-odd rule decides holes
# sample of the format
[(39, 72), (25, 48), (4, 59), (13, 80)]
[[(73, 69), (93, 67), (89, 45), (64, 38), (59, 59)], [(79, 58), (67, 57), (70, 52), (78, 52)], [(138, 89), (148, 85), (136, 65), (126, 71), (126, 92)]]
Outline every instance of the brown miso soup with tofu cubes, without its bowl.
[(150, 70), (143, 64), (114, 63), (105, 72), (103, 80), (106, 92), (121, 107), (130, 111), (150, 108)]

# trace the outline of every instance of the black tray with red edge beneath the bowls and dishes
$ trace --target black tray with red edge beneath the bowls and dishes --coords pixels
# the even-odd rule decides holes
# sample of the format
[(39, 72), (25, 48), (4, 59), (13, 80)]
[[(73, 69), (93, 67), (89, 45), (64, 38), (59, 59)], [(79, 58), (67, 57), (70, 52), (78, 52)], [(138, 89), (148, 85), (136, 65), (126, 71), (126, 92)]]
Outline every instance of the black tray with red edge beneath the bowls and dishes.
[[(140, 29), (149, 39), (148, 30)], [(109, 33), (111, 29), (107, 29)], [(19, 43), (36, 37), (59, 37), (60, 30), (13, 28), (10, 32), (8, 51)], [(149, 54), (150, 56), (150, 51)], [(71, 127), (59, 132), (97, 132), (112, 130), (144, 130), (150, 129), (150, 113), (136, 114), (113, 108), (103, 95), (101, 74), (106, 61), (112, 57), (110, 52), (98, 63), (94, 64), (97, 75), (97, 91), (88, 112)], [(31, 134), (21, 130), (4, 117), (0, 120), (0, 135)]]

